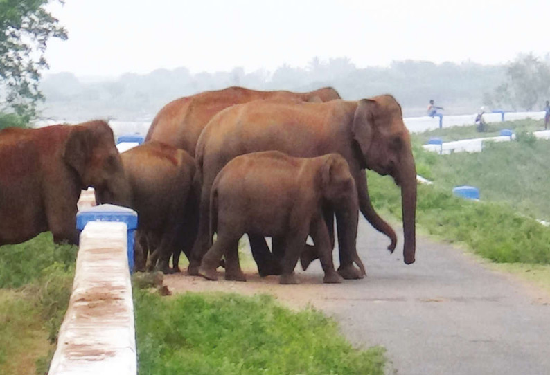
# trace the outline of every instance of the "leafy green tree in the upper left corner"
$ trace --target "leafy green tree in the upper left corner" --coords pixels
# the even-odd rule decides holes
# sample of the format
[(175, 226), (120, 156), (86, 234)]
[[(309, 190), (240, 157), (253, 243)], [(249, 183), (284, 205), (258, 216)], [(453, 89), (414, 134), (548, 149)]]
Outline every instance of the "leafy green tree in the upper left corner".
[[(59, 0), (62, 2), (62, 0)], [(47, 10), (50, 0), (0, 0), (0, 102), (29, 120), (44, 96), (39, 90), (40, 71), (51, 37), (66, 39), (66, 30)]]

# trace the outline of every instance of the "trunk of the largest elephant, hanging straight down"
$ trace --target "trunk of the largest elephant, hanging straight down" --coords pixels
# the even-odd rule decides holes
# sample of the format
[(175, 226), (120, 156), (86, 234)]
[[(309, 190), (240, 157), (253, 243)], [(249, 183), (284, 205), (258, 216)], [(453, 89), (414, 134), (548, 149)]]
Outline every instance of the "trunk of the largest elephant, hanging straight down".
[(416, 251), (416, 167), (412, 154), (406, 157), (400, 171), (401, 204), (403, 215), (403, 259), (406, 264), (414, 263)]

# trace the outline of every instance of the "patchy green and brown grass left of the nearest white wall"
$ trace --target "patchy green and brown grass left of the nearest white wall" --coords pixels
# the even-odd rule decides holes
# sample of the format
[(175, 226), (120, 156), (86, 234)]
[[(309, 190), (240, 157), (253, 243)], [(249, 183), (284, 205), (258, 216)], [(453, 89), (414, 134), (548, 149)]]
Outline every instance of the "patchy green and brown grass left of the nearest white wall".
[(0, 248), (0, 374), (46, 374), (73, 284), (76, 246), (44, 233)]

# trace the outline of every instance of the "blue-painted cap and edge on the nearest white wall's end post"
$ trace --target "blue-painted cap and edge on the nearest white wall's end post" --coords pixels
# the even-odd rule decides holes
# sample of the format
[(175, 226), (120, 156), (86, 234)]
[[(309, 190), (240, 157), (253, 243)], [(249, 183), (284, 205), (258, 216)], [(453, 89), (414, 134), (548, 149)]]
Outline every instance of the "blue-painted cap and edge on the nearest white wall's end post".
[(128, 238), (128, 267), (130, 273), (134, 271), (134, 232), (137, 229), (137, 212), (131, 208), (121, 207), (120, 205), (102, 204), (87, 208), (76, 214), (76, 229), (80, 232), (90, 221), (118, 221), (126, 223)]

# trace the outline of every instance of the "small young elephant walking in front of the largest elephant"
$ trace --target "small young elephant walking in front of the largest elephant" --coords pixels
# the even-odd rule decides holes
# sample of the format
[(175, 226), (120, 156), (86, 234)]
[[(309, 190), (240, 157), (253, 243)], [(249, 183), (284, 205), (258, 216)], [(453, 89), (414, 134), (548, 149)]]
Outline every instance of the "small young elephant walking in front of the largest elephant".
[[(349, 225), (355, 226), (357, 234), (355, 181), (339, 154), (294, 158), (270, 151), (234, 158), (212, 186), (210, 238), (217, 231), (218, 239), (202, 258), (199, 274), (217, 280), (216, 268), (223, 255), (225, 278), (245, 281), (238, 260), (238, 241), (243, 234), (254, 233), (273, 237), (274, 244), (284, 249), (274, 248), (274, 255), (282, 256), (280, 282), (297, 284), (294, 267), (311, 235), (325, 273), (323, 282), (341, 282), (332, 263), (323, 204), (349, 208)], [(355, 244), (355, 238), (353, 241)]]

